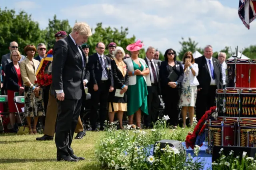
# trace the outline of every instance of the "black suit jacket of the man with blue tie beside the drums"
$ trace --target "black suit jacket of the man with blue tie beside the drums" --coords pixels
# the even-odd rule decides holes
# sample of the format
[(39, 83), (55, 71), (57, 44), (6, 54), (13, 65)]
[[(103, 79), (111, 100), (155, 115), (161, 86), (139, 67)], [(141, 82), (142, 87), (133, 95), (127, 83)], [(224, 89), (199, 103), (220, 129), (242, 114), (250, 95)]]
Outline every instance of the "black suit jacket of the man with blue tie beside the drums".
[[(201, 56), (195, 59), (195, 63), (198, 64), (198, 76), (196, 77), (199, 85), (198, 88), (202, 88), (204, 92), (208, 92), (211, 83), (210, 71), (205, 56)], [(217, 88), (222, 88), (222, 72), (218, 60), (212, 57), (212, 63), (214, 66), (214, 75)]]

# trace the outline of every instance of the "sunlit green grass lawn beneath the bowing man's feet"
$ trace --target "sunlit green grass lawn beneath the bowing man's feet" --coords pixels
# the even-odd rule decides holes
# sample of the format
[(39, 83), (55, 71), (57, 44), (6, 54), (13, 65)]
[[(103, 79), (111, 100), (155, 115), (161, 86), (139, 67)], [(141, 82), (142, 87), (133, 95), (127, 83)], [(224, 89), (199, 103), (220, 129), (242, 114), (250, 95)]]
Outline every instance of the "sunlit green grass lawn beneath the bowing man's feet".
[(0, 170), (101, 170), (94, 152), (102, 134), (87, 132), (82, 140), (73, 140), (74, 153), (85, 157), (79, 162), (56, 162), (54, 140), (36, 141), (42, 134), (1, 134)]

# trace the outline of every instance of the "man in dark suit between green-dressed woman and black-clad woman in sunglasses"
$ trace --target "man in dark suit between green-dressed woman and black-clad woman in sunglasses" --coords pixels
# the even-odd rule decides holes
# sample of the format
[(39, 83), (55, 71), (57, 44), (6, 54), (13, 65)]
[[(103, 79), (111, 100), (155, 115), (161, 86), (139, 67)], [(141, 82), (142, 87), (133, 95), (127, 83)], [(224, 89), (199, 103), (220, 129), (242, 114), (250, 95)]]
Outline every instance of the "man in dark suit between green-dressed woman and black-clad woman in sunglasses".
[(156, 123), (158, 118), (158, 107), (160, 104), (160, 81), (159, 81), (159, 68), (160, 62), (154, 60), (155, 49), (150, 46), (146, 51), (146, 64), (150, 70), (150, 80), (152, 86), (147, 86), (148, 88), (148, 115), (145, 115), (144, 122), (146, 128), (152, 128), (152, 122)]

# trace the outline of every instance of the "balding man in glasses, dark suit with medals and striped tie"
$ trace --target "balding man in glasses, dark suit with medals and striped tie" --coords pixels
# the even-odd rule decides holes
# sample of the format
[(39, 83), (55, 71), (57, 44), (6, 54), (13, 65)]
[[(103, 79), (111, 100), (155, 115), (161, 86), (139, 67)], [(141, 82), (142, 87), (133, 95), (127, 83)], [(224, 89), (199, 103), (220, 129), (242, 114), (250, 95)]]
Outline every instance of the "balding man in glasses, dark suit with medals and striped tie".
[(108, 93), (114, 90), (114, 80), (111, 68), (111, 59), (104, 55), (105, 45), (102, 42), (96, 44), (96, 53), (89, 56), (90, 82), (88, 83), (91, 94), (90, 123), (92, 130), (97, 130), (97, 110), (100, 103), (100, 130), (103, 130), (104, 121), (108, 113)]

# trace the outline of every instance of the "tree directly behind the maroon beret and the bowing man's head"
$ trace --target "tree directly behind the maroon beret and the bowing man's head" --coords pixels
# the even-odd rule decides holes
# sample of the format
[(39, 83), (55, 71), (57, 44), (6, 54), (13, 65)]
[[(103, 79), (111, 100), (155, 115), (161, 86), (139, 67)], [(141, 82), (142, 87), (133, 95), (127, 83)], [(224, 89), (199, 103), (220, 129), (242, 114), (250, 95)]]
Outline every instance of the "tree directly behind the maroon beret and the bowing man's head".
[(57, 16), (54, 15), (53, 20), (49, 19), (48, 27), (45, 31), (45, 38), (47, 40), (47, 49), (50, 50), (54, 43), (55, 38), (54, 35), (56, 32), (66, 31), (67, 34), (72, 32), (72, 28), (70, 27), (68, 20), (58, 20)]

